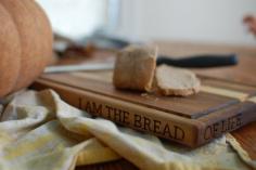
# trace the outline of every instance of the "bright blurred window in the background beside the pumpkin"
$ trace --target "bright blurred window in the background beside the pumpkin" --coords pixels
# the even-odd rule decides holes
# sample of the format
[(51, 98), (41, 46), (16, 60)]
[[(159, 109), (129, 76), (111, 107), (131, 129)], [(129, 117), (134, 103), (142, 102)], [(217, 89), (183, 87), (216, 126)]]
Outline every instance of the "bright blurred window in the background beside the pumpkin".
[(37, 0), (59, 34), (80, 38), (104, 26), (107, 0)]

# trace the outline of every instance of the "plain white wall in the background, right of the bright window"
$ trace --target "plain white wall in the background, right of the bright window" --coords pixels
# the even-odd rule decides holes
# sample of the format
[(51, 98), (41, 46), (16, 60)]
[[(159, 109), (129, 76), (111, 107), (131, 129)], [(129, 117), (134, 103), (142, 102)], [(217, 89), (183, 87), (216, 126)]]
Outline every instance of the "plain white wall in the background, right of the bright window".
[(123, 0), (119, 35), (256, 45), (242, 23), (256, 0)]

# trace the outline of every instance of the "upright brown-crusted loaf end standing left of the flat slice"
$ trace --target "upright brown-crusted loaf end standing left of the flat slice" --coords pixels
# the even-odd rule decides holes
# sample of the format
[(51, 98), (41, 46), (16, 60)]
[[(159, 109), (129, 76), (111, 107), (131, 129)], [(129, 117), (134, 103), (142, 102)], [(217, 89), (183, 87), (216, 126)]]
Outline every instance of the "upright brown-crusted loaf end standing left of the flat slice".
[(151, 91), (157, 49), (130, 45), (117, 54), (113, 83), (118, 89)]

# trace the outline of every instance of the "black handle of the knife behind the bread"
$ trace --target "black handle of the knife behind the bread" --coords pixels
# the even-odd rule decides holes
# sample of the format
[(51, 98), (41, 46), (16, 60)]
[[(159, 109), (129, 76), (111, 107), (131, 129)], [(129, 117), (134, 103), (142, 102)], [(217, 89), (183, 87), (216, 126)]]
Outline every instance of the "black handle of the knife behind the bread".
[(219, 67), (236, 65), (239, 62), (236, 54), (205, 54), (195, 55), (181, 58), (171, 58), (168, 56), (159, 56), (157, 58), (157, 65), (167, 64), (177, 67)]

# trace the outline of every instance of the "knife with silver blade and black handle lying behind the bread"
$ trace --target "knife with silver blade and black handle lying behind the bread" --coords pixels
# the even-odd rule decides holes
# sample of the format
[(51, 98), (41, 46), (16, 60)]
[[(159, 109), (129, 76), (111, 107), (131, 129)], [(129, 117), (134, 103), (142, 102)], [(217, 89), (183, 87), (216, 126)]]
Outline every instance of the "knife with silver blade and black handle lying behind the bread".
[[(238, 64), (238, 56), (235, 54), (226, 55), (196, 55), (181, 58), (171, 58), (169, 56), (157, 57), (156, 65), (167, 64), (176, 67), (188, 67), (188, 68), (206, 68), (206, 67), (219, 67), (219, 66), (231, 66)], [(48, 66), (44, 69), (44, 74), (53, 73), (71, 73), (71, 71), (82, 71), (82, 70), (107, 70), (113, 69), (114, 63), (88, 63), (82, 65), (63, 65), (63, 66)]]

